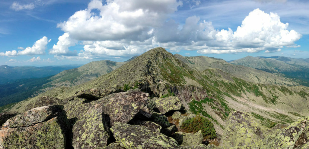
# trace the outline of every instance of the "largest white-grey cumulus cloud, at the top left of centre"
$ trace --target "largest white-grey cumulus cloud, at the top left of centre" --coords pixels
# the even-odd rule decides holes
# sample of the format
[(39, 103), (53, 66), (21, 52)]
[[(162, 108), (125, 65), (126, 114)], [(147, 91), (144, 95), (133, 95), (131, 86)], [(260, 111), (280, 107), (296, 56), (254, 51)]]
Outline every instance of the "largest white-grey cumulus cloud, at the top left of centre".
[(108, 0), (104, 5), (92, 0), (87, 9), (57, 26), (77, 40), (143, 41), (151, 37), (152, 27), (160, 26), (179, 5), (176, 0)]

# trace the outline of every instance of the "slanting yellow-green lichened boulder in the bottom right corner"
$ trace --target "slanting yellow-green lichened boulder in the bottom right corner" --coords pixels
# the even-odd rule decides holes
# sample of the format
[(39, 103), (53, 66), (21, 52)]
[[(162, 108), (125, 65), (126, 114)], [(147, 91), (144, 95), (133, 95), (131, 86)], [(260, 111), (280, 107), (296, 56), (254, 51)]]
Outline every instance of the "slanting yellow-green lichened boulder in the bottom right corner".
[(289, 127), (269, 133), (263, 139), (260, 148), (294, 148), (296, 141), (306, 128), (306, 122), (307, 118), (299, 118)]

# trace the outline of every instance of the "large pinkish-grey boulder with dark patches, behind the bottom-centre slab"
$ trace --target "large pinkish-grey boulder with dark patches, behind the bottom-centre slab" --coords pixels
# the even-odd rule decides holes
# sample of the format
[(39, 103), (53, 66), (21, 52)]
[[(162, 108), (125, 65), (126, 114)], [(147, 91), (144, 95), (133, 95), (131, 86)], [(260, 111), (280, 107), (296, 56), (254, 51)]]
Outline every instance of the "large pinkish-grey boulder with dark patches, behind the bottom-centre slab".
[(144, 92), (121, 92), (108, 95), (97, 100), (94, 104), (103, 108), (104, 114), (114, 122), (128, 123), (147, 104), (149, 94)]

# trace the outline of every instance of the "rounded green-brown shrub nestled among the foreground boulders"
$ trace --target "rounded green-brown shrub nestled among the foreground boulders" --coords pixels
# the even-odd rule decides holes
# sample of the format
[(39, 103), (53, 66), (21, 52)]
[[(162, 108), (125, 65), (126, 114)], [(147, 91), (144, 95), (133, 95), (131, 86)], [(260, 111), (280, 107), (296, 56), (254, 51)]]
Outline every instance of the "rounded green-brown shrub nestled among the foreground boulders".
[(216, 131), (214, 130), (214, 124), (210, 120), (197, 116), (193, 119), (188, 119), (182, 123), (181, 128), (186, 132), (196, 133), (197, 131), (202, 131), (203, 137), (208, 137), (208, 139), (216, 138)]

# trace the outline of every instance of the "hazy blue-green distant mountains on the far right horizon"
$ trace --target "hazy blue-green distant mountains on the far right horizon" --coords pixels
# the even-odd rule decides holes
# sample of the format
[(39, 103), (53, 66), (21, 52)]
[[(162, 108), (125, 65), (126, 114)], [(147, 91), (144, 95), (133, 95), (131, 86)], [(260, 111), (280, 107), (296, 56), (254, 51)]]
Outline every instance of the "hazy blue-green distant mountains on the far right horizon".
[(309, 58), (287, 58), (287, 57), (252, 57), (247, 56), (230, 62), (273, 74), (281, 73), (286, 77), (307, 80), (309, 82)]

